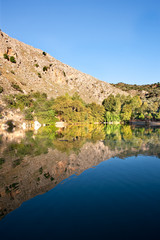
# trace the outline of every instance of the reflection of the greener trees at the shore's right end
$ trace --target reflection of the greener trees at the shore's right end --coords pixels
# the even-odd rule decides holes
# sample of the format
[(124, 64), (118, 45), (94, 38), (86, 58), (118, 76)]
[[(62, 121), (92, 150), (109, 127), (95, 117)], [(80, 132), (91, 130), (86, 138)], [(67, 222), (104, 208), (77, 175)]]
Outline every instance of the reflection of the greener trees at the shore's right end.
[(132, 128), (129, 125), (107, 125), (104, 144), (111, 150), (121, 150), (121, 157), (147, 151), (147, 154), (160, 156), (160, 129)]

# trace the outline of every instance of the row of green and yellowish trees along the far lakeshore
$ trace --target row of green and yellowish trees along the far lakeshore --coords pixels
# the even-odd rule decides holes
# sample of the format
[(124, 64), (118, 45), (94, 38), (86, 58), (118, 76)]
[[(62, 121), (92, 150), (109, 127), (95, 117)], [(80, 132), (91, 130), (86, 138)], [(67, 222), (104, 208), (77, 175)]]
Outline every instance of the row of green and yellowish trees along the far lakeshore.
[(75, 93), (48, 99), (45, 93), (15, 94), (5, 97), (10, 108), (20, 109), (25, 120), (40, 123), (65, 121), (67, 123), (128, 122), (132, 119), (160, 120), (160, 101), (147, 102), (140, 96), (109, 95), (101, 105), (85, 103)]

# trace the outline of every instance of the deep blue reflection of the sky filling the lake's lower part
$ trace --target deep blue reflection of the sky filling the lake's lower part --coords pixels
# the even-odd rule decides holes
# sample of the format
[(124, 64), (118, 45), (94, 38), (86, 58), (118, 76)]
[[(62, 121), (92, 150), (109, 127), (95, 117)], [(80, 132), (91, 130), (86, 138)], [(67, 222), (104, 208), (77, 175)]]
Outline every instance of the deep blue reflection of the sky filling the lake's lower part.
[(112, 158), (23, 203), (0, 222), (1, 237), (152, 239), (159, 233), (159, 170), (156, 157)]

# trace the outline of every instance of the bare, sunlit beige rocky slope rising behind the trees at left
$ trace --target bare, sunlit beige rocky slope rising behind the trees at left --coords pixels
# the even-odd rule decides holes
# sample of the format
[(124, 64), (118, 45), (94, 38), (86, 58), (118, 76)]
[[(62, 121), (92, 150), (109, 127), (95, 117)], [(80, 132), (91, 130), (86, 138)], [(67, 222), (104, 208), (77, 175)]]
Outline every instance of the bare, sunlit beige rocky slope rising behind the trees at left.
[[(4, 58), (7, 54), (8, 59)], [(10, 57), (15, 58), (15, 63)], [(124, 94), (109, 83), (100, 81), (61, 63), (48, 53), (9, 37), (0, 31), (0, 86), (4, 94), (18, 93), (17, 84), (24, 93), (45, 92), (49, 97), (77, 92), (87, 103), (101, 103), (109, 94)]]

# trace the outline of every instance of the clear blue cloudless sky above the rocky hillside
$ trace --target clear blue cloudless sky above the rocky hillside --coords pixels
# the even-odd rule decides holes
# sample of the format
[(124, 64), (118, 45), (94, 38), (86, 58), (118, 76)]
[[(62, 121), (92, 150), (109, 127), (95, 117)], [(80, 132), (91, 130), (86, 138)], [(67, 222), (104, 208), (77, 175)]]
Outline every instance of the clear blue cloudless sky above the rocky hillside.
[(0, 0), (0, 28), (103, 81), (160, 82), (160, 0)]

